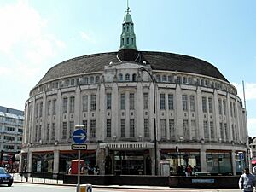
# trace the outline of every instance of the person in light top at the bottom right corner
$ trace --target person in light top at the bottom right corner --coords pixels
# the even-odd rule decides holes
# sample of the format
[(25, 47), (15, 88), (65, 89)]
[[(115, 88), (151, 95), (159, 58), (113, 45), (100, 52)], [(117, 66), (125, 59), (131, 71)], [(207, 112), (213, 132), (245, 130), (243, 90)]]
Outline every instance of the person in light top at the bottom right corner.
[(239, 179), (239, 189), (245, 192), (253, 192), (253, 186), (255, 187), (256, 180), (253, 174), (250, 173), (249, 168), (244, 169), (244, 173)]

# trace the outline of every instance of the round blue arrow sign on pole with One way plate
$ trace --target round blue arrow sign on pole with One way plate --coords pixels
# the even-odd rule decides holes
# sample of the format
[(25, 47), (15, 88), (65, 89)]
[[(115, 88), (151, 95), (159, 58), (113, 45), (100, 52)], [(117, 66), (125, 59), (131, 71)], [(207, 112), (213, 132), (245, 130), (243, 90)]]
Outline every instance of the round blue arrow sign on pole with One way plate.
[(76, 128), (79, 128), (75, 131), (73, 131), (73, 141), (74, 143), (77, 144), (72, 144), (71, 148), (73, 150), (78, 150), (79, 151), (79, 165), (78, 165), (78, 184), (77, 184), (77, 192), (80, 192), (80, 159), (81, 159), (81, 149), (82, 150), (86, 150), (87, 149), (87, 145), (86, 144), (82, 144), (86, 141), (87, 136), (86, 136), (86, 132), (81, 129), (83, 128), (84, 125), (77, 125)]

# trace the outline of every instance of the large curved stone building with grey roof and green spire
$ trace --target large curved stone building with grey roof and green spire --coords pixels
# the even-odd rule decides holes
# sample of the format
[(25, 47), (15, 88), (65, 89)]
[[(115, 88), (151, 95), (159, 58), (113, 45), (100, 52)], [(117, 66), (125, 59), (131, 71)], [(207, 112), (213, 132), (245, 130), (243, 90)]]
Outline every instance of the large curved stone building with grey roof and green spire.
[[(236, 87), (207, 61), (137, 50), (127, 9), (117, 52), (50, 68), (25, 106), (21, 155), (28, 172), (67, 173), (75, 125), (85, 168), (100, 174), (233, 174), (247, 164), (245, 109)], [(156, 139), (155, 139), (156, 138)]]

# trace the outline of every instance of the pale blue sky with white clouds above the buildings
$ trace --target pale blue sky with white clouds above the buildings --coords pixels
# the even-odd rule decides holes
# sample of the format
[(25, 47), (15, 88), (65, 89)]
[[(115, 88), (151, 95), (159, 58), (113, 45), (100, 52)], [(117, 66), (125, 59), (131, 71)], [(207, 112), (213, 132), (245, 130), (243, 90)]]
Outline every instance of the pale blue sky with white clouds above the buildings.
[[(256, 137), (256, 1), (129, 0), (137, 48), (212, 63), (236, 86)], [(119, 49), (126, 0), (0, 0), (0, 106), (24, 110), (50, 67)]]

